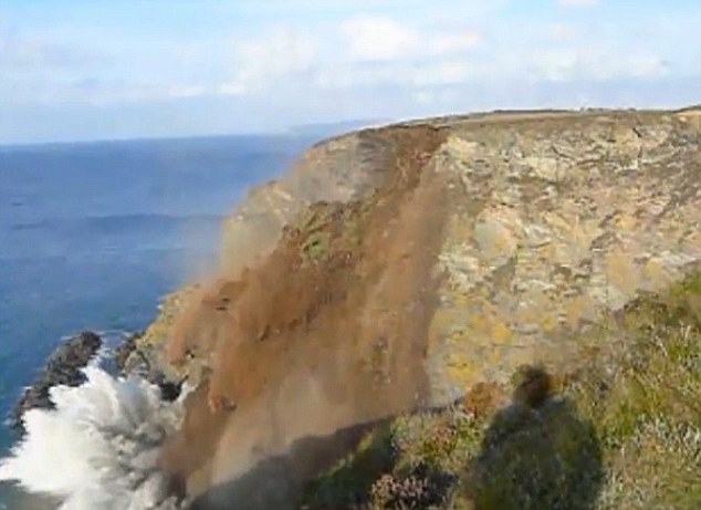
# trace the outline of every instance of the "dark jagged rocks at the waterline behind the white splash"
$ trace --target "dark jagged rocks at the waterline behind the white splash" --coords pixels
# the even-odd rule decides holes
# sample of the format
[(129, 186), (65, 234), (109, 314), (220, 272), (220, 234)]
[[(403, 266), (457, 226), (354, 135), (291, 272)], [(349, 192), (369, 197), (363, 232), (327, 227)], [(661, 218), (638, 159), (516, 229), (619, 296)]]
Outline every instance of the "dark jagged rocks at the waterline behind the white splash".
[(102, 339), (91, 331), (83, 331), (60, 345), (12, 409), (9, 419), (10, 428), (23, 430), (22, 416), (28, 409), (54, 408), (49, 396), (49, 389), (52, 386), (80, 386), (84, 383), (85, 375), (81, 368), (87, 365), (101, 346)]

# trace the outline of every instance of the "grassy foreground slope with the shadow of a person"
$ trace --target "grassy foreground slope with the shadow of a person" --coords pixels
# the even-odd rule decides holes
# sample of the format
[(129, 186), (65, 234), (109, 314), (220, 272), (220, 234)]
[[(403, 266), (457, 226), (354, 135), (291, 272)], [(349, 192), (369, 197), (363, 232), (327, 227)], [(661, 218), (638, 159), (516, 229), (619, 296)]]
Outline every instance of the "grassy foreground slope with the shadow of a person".
[(509, 388), (481, 385), (396, 418), (315, 480), (304, 508), (701, 508), (701, 272), (582, 344), (545, 405), (500, 409)]

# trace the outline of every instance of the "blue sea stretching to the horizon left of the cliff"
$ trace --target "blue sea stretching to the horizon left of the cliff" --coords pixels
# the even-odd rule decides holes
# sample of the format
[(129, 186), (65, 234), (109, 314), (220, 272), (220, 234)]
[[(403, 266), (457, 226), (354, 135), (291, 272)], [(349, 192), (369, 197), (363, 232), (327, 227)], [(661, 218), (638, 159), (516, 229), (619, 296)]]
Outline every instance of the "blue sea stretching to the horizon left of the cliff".
[[(146, 326), (160, 295), (216, 262), (247, 188), (320, 137), (0, 146), (0, 416), (66, 335)], [(14, 439), (0, 427), (0, 458)], [(0, 483), (0, 508), (34, 504), (20, 499)]]

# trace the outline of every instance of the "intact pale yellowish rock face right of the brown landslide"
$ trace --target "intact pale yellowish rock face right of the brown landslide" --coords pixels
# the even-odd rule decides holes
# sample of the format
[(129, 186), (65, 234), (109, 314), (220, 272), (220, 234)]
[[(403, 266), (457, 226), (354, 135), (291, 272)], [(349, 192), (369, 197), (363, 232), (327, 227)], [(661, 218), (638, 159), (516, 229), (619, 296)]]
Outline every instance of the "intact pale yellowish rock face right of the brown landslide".
[(688, 129), (672, 115), (621, 114), (517, 129), (465, 123), (449, 137), (441, 170), (463, 183), (451, 207), (464, 225), (448, 229), (439, 294), (465, 313), (441, 331), (437, 312), (431, 342), (450, 341), (431, 352), (450, 361), (456, 386), (499, 378), (529, 355), (562, 357), (568, 332), (701, 260), (700, 179), (690, 180), (699, 133)]

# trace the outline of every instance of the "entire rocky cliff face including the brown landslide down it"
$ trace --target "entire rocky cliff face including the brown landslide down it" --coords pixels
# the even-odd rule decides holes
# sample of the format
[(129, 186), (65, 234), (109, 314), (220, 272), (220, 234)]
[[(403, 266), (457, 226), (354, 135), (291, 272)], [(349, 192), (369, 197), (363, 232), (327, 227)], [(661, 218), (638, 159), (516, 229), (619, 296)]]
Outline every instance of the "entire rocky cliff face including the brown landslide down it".
[(164, 465), (201, 495), (283, 458), (295, 487), (334, 460), (300, 441), (525, 362), (566, 370), (575, 333), (698, 267), (700, 139), (694, 108), (536, 112), (311, 148), (234, 210), (219, 277), (142, 341), (201, 382)]

